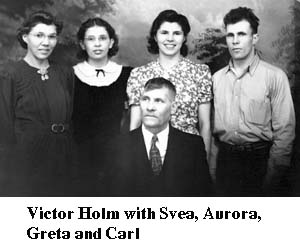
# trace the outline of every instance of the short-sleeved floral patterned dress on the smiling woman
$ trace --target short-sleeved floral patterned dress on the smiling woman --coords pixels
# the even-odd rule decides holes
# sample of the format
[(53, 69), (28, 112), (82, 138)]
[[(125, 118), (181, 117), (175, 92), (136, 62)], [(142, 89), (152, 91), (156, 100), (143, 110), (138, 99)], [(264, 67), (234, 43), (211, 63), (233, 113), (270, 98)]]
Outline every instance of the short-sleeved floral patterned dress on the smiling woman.
[(168, 79), (176, 87), (171, 125), (183, 132), (199, 135), (199, 105), (212, 100), (209, 67), (196, 64), (187, 58), (181, 58), (179, 63), (169, 70), (164, 70), (158, 60), (137, 67), (132, 70), (127, 83), (129, 105), (139, 105), (145, 83), (155, 77)]

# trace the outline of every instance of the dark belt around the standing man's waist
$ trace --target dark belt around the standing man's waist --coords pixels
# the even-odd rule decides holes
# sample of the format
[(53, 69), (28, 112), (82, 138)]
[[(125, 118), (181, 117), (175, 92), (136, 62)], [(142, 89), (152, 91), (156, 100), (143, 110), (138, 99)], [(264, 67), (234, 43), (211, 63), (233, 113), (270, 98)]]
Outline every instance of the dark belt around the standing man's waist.
[(271, 147), (271, 142), (269, 141), (258, 141), (253, 143), (245, 143), (242, 145), (231, 145), (225, 142), (220, 142), (220, 146), (232, 152), (251, 152), (256, 150), (268, 149)]

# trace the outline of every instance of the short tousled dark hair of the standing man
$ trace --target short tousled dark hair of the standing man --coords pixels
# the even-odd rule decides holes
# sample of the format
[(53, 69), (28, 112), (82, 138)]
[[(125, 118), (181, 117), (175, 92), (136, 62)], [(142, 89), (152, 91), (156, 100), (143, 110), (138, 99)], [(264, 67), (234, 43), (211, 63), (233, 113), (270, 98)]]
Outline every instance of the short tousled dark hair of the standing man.
[(253, 13), (253, 10), (247, 7), (238, 7), (231, 9), (224, 17), (223, 22), (225, 28), (229, 24), (235, 24), (242, 20), (250, 23), (253, 34), (257, 33), (259, 18)]

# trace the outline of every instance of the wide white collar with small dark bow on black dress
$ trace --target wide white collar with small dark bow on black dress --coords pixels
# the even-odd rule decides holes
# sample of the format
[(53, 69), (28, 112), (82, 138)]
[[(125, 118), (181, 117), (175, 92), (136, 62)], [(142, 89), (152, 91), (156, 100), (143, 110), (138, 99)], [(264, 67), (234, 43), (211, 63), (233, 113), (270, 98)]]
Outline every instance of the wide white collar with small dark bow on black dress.
[[(90, 65), (87, 61), (83, 61), (73, 66), (75, 75), (84, 83), (90, 86), (109, 86), (115, 82), (121, 74), (122, 66), (113, 62), (108, 61), (108, 63), (101, 67), (96, 68)], [(97, 76), (96, 69), (103, 70)]]

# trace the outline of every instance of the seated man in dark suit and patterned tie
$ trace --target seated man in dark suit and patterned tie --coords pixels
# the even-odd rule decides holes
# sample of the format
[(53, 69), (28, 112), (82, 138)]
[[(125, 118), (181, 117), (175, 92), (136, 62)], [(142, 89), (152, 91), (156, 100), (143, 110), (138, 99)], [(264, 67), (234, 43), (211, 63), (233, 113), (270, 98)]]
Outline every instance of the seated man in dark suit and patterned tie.
[(140, 101), (142, 126), (108, 144), (107, 195), (211, 195), (202, 137), (169, 125), (175, 94), (174, 85), (164, 78), (146, 83)]

